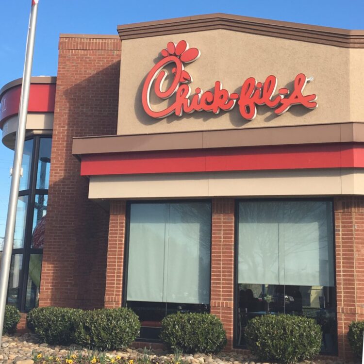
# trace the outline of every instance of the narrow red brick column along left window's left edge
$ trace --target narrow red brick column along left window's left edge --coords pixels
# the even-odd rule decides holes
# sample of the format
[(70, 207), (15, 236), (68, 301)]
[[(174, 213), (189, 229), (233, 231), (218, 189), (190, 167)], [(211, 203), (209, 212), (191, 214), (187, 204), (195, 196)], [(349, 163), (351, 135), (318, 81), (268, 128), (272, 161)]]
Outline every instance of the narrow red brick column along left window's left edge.
[(107, 248), (105, 307), (121, 306), (124, 270), (126, 202), (110, 201), (109, 243)]

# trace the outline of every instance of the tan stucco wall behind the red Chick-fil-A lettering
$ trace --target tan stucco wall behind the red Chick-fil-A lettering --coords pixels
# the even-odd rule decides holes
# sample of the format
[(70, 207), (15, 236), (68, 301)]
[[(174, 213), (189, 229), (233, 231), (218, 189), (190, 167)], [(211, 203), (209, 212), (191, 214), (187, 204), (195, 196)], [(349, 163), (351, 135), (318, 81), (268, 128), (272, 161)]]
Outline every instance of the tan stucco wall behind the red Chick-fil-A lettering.
[[(230, 112), (193, 113), (182, 117), (152, 119), (143, 110), (141, 91), (149, 70), (160, 59), (168, 41), (186, 40), (201, 51), (198, 60), (187, 64), (191, 89), (209, 90), (221, 81), (230, 92), (240, 92), (248, 77), (264, 82), (268, 75), (278, 78), (278, 88), (292, 87), (298, 73), (314, 81), (304, 95), (317, 94), (318, 108), (292, 106), (281, 116), (258, 106), (257, 116), (247, 121), (237, 105)], [(118, 134), (178, 132), (192, 130), (256, 128), (364, 121), (361, 102), (364, 81), (364, 49), (347, 49), (263, 35), (212, 30), (123, 40), (120, 71)], [(292, 88), (291, 88), (292, 89)], [(172, 97), (174, 99), (174, 97)], [(169, 100), (171, 102), (171, 100)], [(163, 109), (168, 100), (158, 107)], [(155, 104), (155, 101), (154, 101)]]

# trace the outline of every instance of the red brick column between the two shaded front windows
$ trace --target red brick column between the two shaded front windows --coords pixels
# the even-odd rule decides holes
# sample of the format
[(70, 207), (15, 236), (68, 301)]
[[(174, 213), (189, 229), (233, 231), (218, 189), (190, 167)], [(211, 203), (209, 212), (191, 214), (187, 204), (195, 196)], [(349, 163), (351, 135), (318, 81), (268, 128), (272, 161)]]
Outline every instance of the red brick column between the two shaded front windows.
[(232, 348), (234, 300), (234, 199), (212, 201), (211, 313), (219, 317)]

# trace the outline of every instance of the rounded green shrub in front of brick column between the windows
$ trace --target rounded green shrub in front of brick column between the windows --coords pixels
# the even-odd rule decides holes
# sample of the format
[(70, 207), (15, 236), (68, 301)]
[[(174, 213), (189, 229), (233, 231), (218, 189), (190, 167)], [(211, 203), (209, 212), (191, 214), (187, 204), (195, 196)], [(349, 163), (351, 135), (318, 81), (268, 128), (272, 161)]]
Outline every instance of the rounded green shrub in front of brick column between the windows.
[(177, 313), (162, 320), (161, 339), (186, 353), (218, 353), (226, 345), (226, 332), (213, 314)]

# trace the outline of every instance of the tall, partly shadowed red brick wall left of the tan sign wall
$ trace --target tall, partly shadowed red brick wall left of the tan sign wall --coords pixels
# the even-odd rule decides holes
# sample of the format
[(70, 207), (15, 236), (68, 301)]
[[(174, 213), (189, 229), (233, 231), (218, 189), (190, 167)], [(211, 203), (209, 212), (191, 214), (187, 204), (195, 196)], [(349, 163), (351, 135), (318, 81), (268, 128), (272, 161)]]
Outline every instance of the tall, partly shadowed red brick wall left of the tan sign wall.
[(109, 214), (88, 200), (75, 136), (116, 133), (121, 41), (61, 36), (40, 306), (103, 307)]

